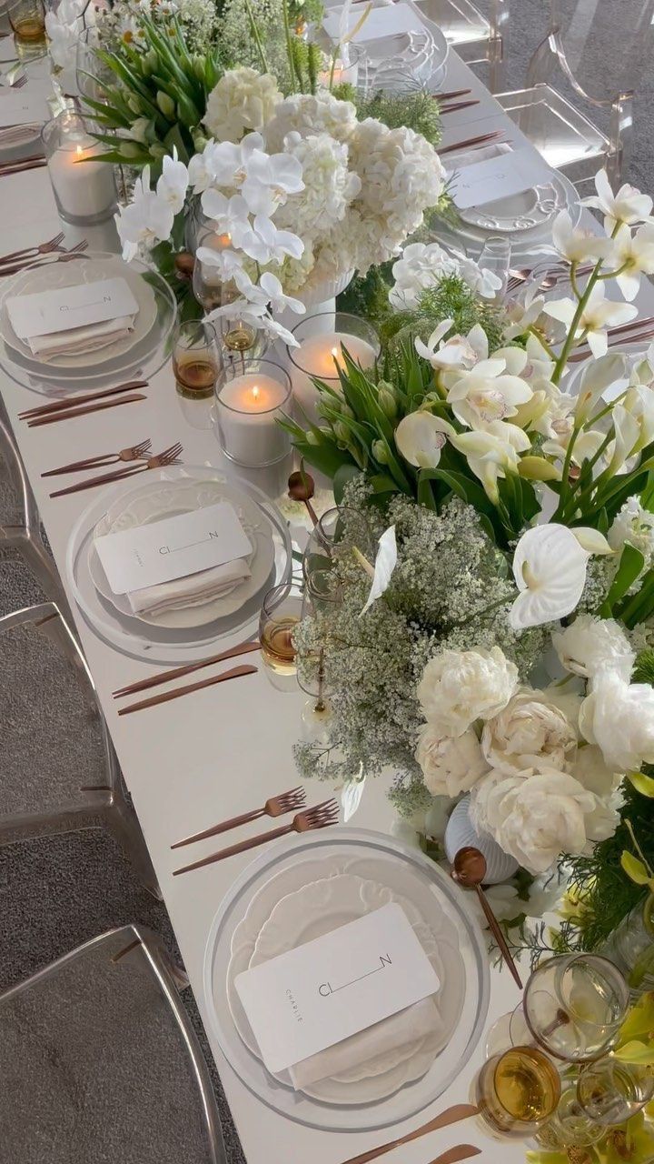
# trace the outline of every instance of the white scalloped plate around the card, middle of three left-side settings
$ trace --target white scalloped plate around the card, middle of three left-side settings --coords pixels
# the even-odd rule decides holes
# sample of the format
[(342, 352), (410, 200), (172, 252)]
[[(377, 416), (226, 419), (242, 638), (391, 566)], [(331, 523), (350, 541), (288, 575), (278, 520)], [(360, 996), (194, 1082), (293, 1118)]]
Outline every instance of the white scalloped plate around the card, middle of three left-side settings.
[(261, 510), (241, 489), (220, 481), (177, 481), (148, 482), (135, 487), (134, 492), (115, 502), (98, 521), (93, 540), (107, 533), (119, 533), (121, 530), (134, 530), (138, 525), (150, 525), (163, 521), (164, 518), (177, 517), (179, 513), (191, 513), (207, 505), (229, 502), (243, 526), (253, 547), (248, 556), (250, 577), (234, 584), (233, 589), (212, 598), (198, 606), (184, 606), (177, 610), (162, 611), (158, 615), (134, 613), (127, 595), (113, 592), (94, 544), (88, 547), (88, 573), (102, 597), (107, 598), (116, 610), (149, 626), (168, 626), (172, 630), (187, 630), (193, 626), (206, 626), (218, 618), (226, 618), (244, 606), (256, 594), (261, 594), (270, 577), (275, 561), (275, 547), (270, 531), (263, 523)]

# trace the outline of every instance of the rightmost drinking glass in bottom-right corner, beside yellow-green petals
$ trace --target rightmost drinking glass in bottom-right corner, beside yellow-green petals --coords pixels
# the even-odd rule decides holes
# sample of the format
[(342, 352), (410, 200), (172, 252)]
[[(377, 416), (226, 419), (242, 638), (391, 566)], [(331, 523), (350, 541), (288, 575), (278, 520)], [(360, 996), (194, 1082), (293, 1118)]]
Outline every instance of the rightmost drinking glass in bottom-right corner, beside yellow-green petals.
[(590, 1120), (606, 1127), (624, 1123), (654, 1095), (651, 1067), (620, 1063), (612, 1055), (589, 1063), (577, 1080), (577, 1100)]

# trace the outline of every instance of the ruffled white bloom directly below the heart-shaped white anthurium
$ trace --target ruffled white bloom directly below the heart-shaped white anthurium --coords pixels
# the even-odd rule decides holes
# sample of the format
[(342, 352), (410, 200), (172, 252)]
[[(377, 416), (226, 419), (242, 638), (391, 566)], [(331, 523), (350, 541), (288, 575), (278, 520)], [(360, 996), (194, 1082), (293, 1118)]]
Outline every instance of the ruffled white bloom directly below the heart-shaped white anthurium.
[(580, 615), (562, 631), (552, 632), (554, 650), (566, 670), (593, 679), (600, 670), (616, 670), (628, 681), (634, 652), (614, 618)]

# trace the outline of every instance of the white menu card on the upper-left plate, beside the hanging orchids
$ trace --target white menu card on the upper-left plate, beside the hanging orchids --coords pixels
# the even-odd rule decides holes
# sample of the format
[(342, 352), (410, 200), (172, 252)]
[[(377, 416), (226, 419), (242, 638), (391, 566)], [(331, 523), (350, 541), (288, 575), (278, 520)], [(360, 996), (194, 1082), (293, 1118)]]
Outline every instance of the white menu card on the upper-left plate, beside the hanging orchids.
[(36, 291), (7, 300), (12, 327), (21, 340), (104, 324), (108, 319), (135, 315), (137, 311), (138, 304), (129, 284), (120, 277)]

